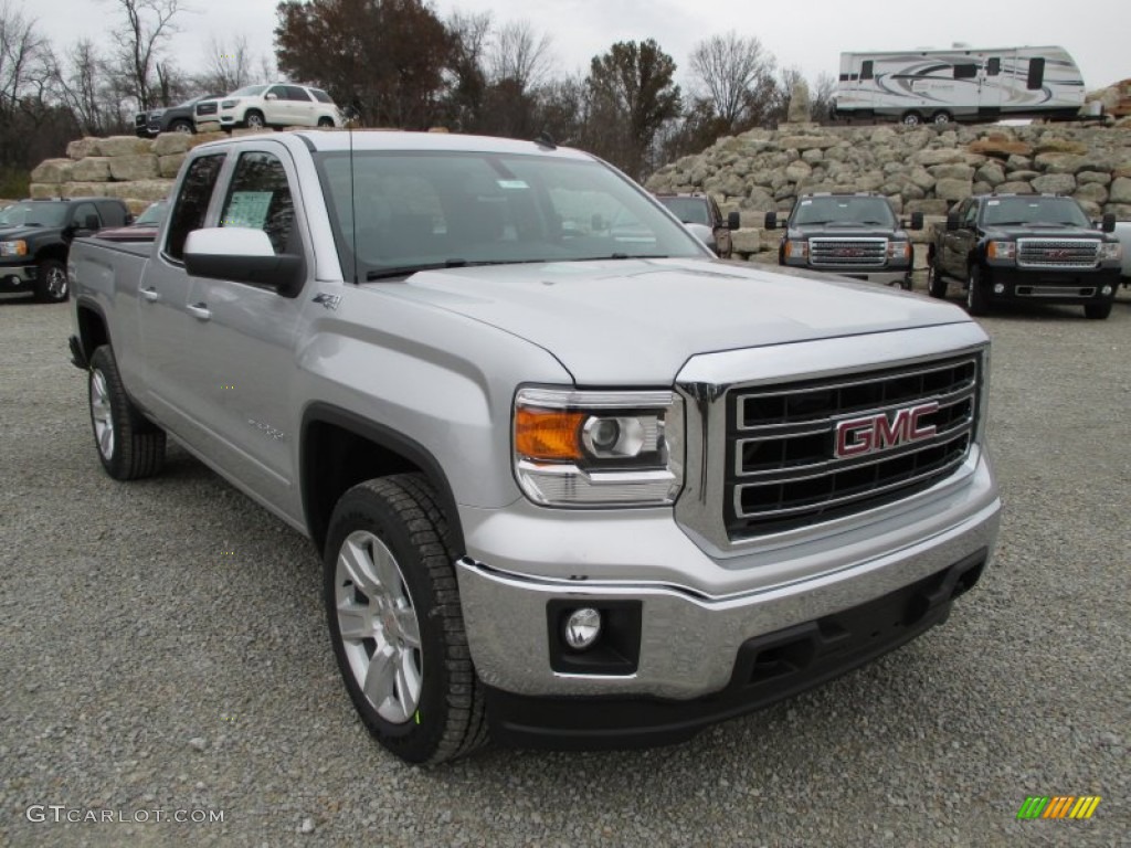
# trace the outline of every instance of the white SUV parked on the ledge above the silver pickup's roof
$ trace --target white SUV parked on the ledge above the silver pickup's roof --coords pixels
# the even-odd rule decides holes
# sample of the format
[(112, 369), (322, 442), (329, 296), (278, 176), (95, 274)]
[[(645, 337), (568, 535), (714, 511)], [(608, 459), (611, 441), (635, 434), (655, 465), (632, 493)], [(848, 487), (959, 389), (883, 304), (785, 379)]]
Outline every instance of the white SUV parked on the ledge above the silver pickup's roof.
[(235, 127), (340, 127), (342, 113), (321, 88), (290, 83), (244, 86), (223, 98), (197, 104), (196, 122)]

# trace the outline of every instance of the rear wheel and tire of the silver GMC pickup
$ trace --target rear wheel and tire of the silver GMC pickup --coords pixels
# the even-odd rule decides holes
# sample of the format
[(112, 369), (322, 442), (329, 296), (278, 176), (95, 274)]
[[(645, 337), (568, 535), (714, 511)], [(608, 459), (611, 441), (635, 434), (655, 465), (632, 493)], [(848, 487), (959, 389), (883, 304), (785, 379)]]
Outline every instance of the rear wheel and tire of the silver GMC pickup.
[(121, 481), (157, 474), (165, 464), (165, 431), (133, 406), (110, 345), (90, 357), (87, 396), (94, 445), (106, 474)]

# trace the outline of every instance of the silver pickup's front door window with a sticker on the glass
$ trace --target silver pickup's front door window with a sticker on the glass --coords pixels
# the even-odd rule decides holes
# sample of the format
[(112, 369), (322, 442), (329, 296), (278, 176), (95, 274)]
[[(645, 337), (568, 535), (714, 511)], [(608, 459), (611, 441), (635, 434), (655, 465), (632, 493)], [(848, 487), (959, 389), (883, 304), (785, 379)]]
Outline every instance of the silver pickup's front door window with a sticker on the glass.
[(299, 252), (297, 245), (291, 245), (294, 200), (278, 157), (269, 153), (240, 155), (219, 225), (262, 230), (276, 253)]

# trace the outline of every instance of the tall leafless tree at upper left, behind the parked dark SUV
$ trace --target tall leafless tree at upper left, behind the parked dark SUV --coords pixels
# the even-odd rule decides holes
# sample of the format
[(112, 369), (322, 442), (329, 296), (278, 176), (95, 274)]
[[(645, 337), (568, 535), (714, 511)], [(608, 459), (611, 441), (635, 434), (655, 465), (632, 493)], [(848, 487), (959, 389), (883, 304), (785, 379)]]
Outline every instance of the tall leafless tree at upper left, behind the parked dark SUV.
[[(162, 49), (176, 32), (173, 18), (181, 10), (181, 0), (112, 0), (126, 16), (126, 27), (115, 29), (119, 70), (129, 80), (139, 110), (156, 105), (159, 98), (170, 105), (172, 75), (161, 62)], [(154, 76), (158, 77), (154, 85)]]

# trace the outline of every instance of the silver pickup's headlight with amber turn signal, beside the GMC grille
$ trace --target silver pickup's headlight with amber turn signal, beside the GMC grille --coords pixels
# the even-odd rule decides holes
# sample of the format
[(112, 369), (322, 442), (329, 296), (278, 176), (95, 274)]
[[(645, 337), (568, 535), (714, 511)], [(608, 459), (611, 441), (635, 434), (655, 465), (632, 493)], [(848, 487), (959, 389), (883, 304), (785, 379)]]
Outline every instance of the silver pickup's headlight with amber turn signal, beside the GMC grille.
[(658, 507), (683, 485), (683, 401), (671, 391), (520, 389), (515, 477), (547, 507)]

